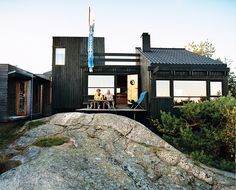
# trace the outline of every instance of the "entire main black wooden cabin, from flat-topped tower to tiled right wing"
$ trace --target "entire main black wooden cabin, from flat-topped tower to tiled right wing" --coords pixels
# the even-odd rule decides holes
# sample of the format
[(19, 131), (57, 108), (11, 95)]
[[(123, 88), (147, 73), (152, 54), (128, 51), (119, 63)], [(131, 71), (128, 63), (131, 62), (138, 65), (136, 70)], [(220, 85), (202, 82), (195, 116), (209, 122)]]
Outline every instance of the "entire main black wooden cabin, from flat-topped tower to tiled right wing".
[(226, 64), (182, 48), (151, 48), (143, 33), (136, 53), (105, 53), (105, 41), (94, 38), (92, 73), (87, 68), (87, 37), (53, 37), (52, 100), (54, 112), (86, 107), (97, 88), (114, 94), (118, 108), (128, 107), (142, 91), (149, 116), (160, 110), (178, 112), (187, 101), (200, 101), (227, 94)]

